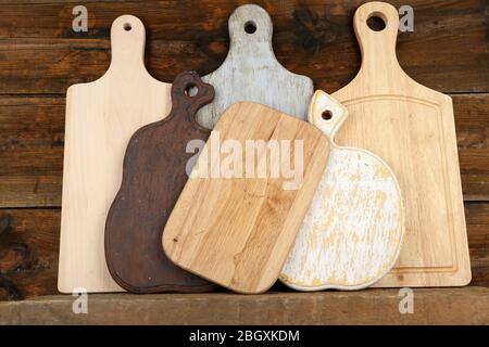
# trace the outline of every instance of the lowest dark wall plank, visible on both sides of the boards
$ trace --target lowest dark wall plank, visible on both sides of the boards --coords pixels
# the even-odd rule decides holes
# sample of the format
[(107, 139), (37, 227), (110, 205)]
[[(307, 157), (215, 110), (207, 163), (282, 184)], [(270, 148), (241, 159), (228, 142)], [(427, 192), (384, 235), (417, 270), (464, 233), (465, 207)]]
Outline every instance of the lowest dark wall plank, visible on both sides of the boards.
[[(466, 203), (465, 214), (471, 285), (489, 286), (489, 203)], [(0, 301), (58, 294), (60, 218), (58, 208), (0, 209)]]

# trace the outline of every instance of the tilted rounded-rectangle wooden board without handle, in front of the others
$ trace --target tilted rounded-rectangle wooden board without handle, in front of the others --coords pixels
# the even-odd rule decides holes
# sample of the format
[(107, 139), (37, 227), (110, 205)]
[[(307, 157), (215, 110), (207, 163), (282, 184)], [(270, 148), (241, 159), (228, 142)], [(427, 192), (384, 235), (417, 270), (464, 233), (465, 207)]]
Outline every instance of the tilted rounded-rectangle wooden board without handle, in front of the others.
[[(281, 147), (278, 155), (274, 144)], [(233, 105), (170, 216), (166, 255), (233, 291), (265, 292), (278, 278), (328, 155), (329, 141), (310, 124), (255, 103)]]

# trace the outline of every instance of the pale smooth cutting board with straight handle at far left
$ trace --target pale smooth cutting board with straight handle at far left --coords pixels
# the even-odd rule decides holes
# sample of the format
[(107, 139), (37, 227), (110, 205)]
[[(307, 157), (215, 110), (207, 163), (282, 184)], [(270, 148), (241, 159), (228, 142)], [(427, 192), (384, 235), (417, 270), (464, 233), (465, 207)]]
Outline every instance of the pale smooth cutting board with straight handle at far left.
[(124, 151), (140, 127), (167, 115), (171, 85), (143, 64), (145, 27), (123, 15), (111, 28), (112, 62), (98, 80), (70, 87), (58, 287), (123, 291), (105, 265), (103, 230), (121, 185)]

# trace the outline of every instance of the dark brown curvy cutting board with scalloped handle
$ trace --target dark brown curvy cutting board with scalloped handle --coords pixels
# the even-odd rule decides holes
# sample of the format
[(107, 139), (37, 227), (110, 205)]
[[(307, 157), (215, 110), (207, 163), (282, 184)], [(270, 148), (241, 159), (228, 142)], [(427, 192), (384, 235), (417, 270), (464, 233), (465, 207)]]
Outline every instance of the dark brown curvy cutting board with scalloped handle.
[[(190, 87), (197, 87), (193, 97)], [(197, 73), (181, 73), (172, 86), (170, 115), (140, 128), (127, 145), (122, 185), (105, 223), (105, 259), (114, 281), (129, 292), (215, 287), (173, 265), (161, 244), (166, 220), (188, 179), (187, 162), (195, 155), (186, 153), (187, 144), (210, 136), (195, 115), (213, 98), (214, 88)]]

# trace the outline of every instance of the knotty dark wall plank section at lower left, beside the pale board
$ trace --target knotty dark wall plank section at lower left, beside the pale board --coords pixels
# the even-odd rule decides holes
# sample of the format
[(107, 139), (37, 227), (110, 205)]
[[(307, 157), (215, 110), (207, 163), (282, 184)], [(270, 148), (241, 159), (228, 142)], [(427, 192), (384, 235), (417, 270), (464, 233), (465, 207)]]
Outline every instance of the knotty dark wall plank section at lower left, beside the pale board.
[(60, 209), (0, 209), (0, 300), (58, 293)]

